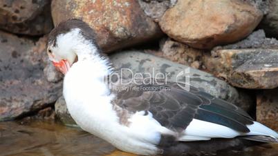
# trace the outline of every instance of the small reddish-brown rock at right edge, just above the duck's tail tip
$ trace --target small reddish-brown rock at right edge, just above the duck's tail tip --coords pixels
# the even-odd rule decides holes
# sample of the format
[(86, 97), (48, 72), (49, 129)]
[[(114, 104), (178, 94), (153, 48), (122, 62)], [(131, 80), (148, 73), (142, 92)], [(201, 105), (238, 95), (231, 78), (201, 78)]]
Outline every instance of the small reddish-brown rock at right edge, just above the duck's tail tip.
[(278, 89), (258, 91), (257, 121), (278, 131)]

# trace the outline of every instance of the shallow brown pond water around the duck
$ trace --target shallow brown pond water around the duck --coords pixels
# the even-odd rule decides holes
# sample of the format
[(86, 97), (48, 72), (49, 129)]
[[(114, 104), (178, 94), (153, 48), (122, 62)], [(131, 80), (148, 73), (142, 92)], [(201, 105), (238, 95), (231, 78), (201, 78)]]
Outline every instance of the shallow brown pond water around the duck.
[[(0, 155), (12, 156), (135, 156), (116, 150), (80, 128), (62, 126), (54, 121), (0, 122)], [(278, 144), (254, 146), (244, 152), (217, 156), (278, 156)]]

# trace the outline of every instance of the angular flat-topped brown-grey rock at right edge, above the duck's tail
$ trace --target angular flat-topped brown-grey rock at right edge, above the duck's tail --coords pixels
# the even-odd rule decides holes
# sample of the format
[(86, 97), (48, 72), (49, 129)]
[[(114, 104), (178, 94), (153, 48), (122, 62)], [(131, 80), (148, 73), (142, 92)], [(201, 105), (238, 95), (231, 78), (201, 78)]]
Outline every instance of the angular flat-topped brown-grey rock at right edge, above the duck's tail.
[(278, 87), (278, 49), (214, 50), (206, 57), (207, 70), (232, 86), (249, 89)]

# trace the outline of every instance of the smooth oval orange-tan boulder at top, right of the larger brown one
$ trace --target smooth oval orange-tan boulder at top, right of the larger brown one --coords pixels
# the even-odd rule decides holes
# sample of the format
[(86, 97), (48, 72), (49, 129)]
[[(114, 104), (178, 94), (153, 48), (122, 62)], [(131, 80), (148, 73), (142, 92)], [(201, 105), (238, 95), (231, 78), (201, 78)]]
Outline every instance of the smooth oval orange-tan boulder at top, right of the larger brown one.
[(263, 12), (247, 1), (178, 1), (161, 20), (169, 37), (194, 48), (213, 48), (247, 37)]

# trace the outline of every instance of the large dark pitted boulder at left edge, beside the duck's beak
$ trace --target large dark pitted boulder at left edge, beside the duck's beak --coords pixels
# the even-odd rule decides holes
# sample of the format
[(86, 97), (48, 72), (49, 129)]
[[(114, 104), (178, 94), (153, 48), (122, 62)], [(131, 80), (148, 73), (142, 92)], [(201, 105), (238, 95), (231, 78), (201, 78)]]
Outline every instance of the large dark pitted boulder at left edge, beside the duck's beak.
[(44, 75), (45, 38), (36, 43), (0, 32), (0, 121), (45, 108), (62, 92), (62, 81)]

